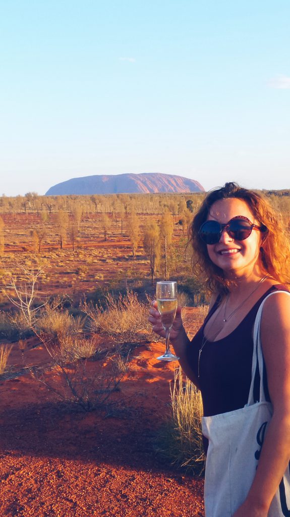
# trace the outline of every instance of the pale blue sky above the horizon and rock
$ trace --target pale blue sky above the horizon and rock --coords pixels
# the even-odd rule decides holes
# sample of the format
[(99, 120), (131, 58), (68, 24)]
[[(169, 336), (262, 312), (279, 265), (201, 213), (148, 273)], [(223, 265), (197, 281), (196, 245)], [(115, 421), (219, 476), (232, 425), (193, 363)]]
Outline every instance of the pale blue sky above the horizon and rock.
[(289, 0), (0, 0), (0, 194), (162, 172), (290, 188)]

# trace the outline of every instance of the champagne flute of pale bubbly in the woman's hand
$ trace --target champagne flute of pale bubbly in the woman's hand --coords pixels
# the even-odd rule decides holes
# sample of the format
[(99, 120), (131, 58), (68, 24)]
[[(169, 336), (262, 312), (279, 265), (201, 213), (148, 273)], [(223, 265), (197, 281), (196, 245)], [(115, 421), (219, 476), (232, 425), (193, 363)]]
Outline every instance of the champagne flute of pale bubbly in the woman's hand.
[(177, 285), (176, 282), (156, 283), (157, 309), (161, 316), (161, 323), (165, 330), (166, 349), (165, 353), (157, 357), (159, 361), (177, 361), (179, 357), (171, 354), (169, 348), (169, 332), (174, 322), (177, 309)]

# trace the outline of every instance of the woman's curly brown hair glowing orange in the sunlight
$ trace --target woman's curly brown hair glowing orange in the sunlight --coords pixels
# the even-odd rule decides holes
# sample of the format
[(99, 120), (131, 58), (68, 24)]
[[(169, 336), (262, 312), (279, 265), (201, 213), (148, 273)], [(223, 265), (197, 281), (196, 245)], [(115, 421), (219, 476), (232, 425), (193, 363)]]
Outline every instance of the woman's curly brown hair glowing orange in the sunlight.
[(218, 200), (231, 197), (245, 201), (255, 219), (267, 228), (260, 248), (265, 273), (281, 284), (290, 284), (290, 240), (281, 217), (262, 195), (240, 187), (232, 181), (206, 195), (191, 223), (189, 241), (193, 248), (192, 269), (197, 278), (204, 282), (212, 293), (229, 292), (229, 281), (224, 278), (222, 269), (208, 256), (206, 244), (199, 236), (199, 229), (206, 221), (212, 205)]

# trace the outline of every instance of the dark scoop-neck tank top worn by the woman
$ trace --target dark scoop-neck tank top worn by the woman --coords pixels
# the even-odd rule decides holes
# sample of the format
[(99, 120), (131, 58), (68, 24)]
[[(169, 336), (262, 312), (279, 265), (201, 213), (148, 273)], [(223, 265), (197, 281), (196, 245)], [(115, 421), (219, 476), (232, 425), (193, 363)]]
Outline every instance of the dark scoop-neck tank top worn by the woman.
[[(272, 285), (261, 296), (244, 320), (225, 338), (216, 342), (206, 341), (200, 358), (200, 390), (204, 416), (226, 413), (248, 402), (252, 356), (253, 325), (262, 300), (272, 291), (288, 291), (284, 285)], [(204, 337), (204, 326), (218, 307), (219, 298), (206, 316), (202, 327), (187, 347), (190, 368), (198, 376), (198, 356)], [(266, 372), (266, 369), (264, 369)], [(254, 398), (259, 400), (259, 372), (256, 375)], [(264, 379), (265, 394), (269, 400), (267, 377)]]

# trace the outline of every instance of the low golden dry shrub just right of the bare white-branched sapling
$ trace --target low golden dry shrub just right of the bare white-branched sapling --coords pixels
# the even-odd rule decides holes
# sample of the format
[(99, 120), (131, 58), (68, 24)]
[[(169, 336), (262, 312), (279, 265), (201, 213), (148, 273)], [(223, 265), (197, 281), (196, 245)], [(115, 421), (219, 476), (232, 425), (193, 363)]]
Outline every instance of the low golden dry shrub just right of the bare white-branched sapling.
[(39, 331), (56, 337), (58, 333), (66, 335), (82, 332), (85, 321), (86, 317), (82, 315), (74, 317), (66, 309), (47, 305), (45, 312), (38, 318), (36, 326)]

